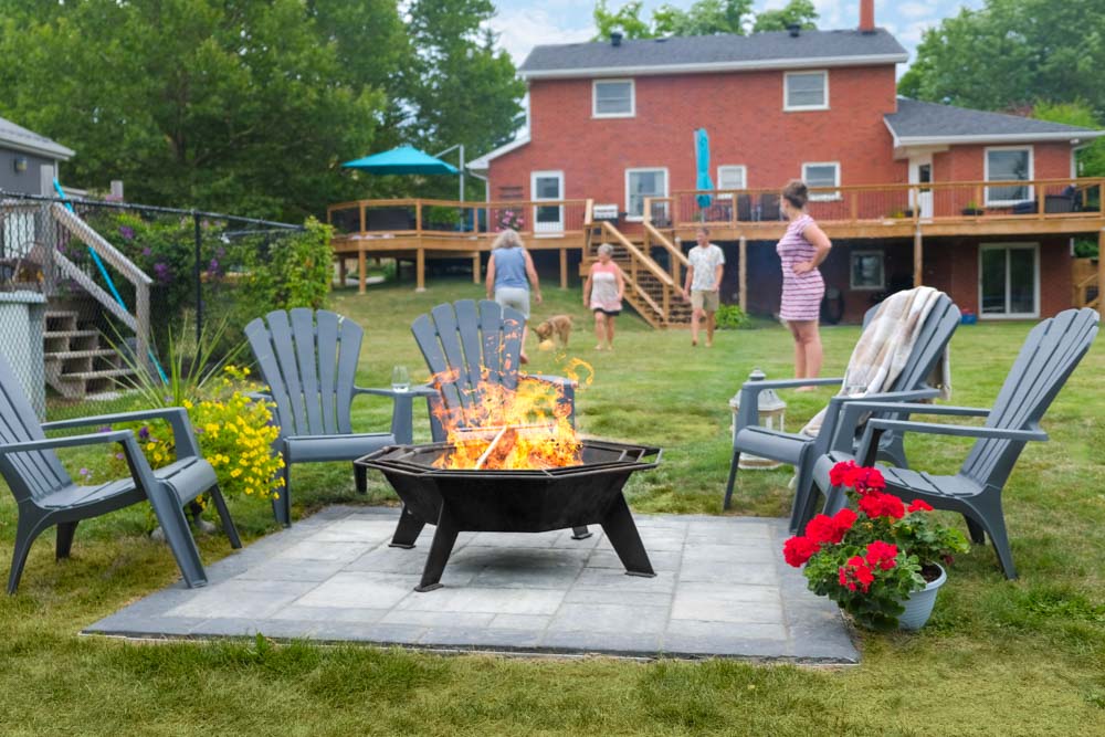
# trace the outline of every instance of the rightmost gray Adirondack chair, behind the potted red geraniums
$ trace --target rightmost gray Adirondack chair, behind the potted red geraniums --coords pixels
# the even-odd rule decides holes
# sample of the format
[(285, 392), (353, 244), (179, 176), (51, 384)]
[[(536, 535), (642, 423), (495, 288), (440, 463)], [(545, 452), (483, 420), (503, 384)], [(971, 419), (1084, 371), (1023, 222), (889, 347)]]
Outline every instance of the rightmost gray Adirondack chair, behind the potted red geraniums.
[[(834, 514), (844, 505), (844, 492), (832, 487), (829, 471), (836, 462), (852, 459), (862, 460), (864, 465), (874, 464), (874, 448), (883, 433), (924, 432), (977, 438), (962, 467), (954, 476), (882, 465), (877, 467), (886, 478), (888, 493), (905, 502), (924, 499), (937, 509), (962, 514), (974, 543), (986, 543), (986, 535), (989, 535), (1006, 577), (1015, 578), (1017, 569), (1001, 509), (1001, 489), (1024, 444), (1048, 440), (1048, 434), (1040, 429), (1040, 420), (1090, 350), (1097, 329), (1097, 313), (1088, 308), (1067, 309), (1032, 328), (992, 409), (866, 401), (849, 403), (842, 412), (831, 452), (818, 460), (813, 473), (818, 488), (827, 492), (825, 512)], [(854, 450), (851, 438), (863, 412), (877, 412), (883, 417), (867, 421), (860, 448)], [(980, 417), (986, 418), (986, 423), (972, 427), (890, 419), (893, 415), (908, 418), (909, 414)]]

